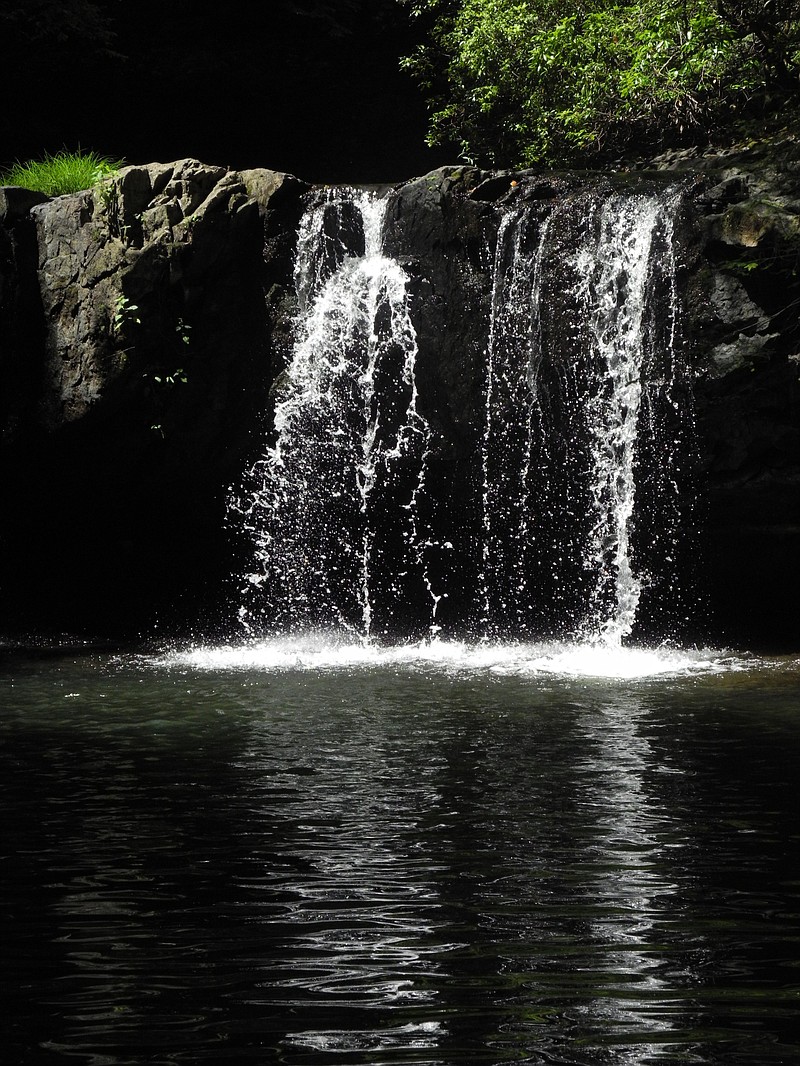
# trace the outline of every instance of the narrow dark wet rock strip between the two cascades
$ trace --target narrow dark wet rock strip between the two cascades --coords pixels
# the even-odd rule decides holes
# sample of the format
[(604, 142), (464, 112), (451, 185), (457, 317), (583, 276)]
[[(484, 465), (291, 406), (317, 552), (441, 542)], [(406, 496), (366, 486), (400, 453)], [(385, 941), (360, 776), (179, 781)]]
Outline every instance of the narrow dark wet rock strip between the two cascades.
[[(427, 496), (435, 500), (434, 528), (447, 530), (451, 548), (429, 562), (432, 583), (449, 589), (437, 620), (468, 612), (475, 589), (474, 531), (479, 485), (475, 456), (484, 427), (483, 388), (486, 321), (492, 292), (491, 248), (497, 220), (489, 204), (469, 198), (479, 173), (445, 167), (401, 187), (386, 217), (386, 253), (410, 277), (419, 355), (420, 414), (432, 431)], [(454, 301), (452, 293), (461, 296)]]

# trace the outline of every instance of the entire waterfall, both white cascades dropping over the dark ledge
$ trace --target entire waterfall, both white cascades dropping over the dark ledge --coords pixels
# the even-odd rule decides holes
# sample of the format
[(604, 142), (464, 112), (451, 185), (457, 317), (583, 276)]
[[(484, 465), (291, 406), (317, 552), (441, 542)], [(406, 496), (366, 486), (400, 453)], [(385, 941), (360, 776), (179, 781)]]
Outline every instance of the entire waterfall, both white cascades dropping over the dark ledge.
[[(454, 446), (432, 416), (450, 402), (432, 384), (435, 334), (420, 351), (414, 324), (436, 304), (385, 252), (389, 200), (317, 194), (298, 233), (291, 354), (229, 501), (252, 546), (245, 628), (617, 646), (642, 612), (660, 621), (690, 421), (679, 201), (679, 187), (595, 181), (497, 209), (483, 426), (464, 462), (474, 473), (453, 483), (442, 456)], [(474, 515), (480, 528), (453, 528)], [(448, 587), (455, 572), (463, 587)], [(443, 623), (451, 594), (469, 617)]]

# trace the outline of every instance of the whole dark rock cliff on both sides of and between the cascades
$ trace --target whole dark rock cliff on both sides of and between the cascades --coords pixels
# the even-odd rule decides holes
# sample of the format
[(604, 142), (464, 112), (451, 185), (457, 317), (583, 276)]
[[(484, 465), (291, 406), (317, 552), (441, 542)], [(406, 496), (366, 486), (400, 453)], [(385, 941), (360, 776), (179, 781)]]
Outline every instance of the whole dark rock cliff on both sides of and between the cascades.
[[(796, 147), (654, 164), (685, 180), (678, 281), (711, 632), (751, 645), (800, 640)], [(475, 528), (459, 516), (478, 498), (466, 456), (483, 431), (498, 205), (547, 212), (585, 187), (637, 180), (446, 167), (391, 192), (386, 252), (411, 278), (444, 524)], [(226, 487), (285, 366), (307, 188), (182, 160), (47, 203), (0, 191), (6, 624), (135, 629), (219, 600)], [(442, 584), (469, 587), (474, 556), (455, 544)]]

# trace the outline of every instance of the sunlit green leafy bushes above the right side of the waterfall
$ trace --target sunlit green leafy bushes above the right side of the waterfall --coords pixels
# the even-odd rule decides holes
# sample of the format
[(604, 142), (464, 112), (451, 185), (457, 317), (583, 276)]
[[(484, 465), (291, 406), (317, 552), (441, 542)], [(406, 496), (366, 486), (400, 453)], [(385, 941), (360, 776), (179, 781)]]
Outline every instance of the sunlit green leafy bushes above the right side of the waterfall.
[[(495, 165), (708, 133), (800, 97), (800, 0), (400, 0), (429, 141)], [(569, 13), (566, 13), (569, 12)]]

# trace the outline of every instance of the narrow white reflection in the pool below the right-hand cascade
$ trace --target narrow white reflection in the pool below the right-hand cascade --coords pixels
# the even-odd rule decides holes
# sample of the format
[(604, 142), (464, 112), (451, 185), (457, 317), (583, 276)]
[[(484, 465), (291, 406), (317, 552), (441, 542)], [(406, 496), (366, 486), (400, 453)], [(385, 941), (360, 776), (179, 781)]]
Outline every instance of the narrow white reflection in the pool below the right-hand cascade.
[(592, 781), (586, 814), (594, 836), (581, 862), (593, 915), (582, 968), (602, 990), (581, 1007), (581, 1030), (630, 1064), (671, 1056), (687, 1043), (689, 1014), (674, 942), (687, 924), (676, 851), (690, 845), (689, 827), (658, 790), (660, 775), (686, 771), (659, 761), (643, 734), (647, 717), (629, 696), (593, 709), (581, 721), (588, 748), (576, 766)]

